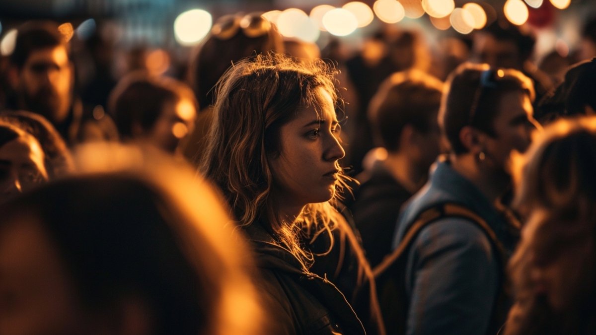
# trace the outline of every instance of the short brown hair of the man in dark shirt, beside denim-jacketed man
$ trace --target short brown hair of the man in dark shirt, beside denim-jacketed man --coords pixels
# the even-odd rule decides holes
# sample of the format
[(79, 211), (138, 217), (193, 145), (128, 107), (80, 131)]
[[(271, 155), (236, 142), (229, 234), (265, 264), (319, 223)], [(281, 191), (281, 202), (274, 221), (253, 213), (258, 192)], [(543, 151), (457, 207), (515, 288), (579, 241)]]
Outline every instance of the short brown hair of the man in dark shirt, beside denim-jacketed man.
[(419, 70), (396, 72), (380, 86), (371, 100), (368, 118), (379, 145), (399, 150), (406, 125), (428, 132), (439, 111), (443, 83)]

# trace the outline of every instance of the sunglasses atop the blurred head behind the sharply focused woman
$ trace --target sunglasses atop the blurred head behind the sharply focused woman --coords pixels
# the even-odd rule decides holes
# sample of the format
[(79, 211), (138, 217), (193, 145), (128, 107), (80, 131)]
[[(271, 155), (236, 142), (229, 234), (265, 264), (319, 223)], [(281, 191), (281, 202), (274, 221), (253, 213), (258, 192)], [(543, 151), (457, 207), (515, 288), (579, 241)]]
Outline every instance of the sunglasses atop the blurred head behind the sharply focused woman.
[(242, 15), (224, 15), (213, 24), (211, 34), (218, 39), (231, 39), (242, 30), (248, 38), (257, 38), (267, 35), (271, 30), (272, 24), (261, 13), (254, 12)]

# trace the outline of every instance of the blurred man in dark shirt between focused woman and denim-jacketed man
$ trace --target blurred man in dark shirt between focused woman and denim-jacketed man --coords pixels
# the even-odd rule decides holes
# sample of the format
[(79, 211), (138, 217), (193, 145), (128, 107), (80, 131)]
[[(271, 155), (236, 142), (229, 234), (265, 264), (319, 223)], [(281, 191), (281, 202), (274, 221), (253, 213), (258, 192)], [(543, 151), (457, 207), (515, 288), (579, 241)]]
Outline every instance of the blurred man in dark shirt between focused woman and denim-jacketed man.
[(387, 158), (370, 172), (352, 206), (371, 266), (391, 252), (399, 209), (426, 182), (439, 154), (439, 111), (443, 83), (418, 70), (398, 72), (381, 85), (368, 117)]

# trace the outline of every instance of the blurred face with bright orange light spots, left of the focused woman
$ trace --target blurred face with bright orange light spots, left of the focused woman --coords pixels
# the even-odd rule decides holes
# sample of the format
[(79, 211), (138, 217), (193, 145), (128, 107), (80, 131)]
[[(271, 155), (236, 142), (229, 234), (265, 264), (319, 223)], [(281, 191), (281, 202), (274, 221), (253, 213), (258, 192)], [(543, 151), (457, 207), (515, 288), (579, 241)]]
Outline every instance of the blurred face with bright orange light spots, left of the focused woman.
[(181, 99), (175, 104), (166, 103), (162, 114), (148, 134), (148, 141), (156, 147), (173, 153), (182, 139), (193, 131), (197, 110), (188, 99)]

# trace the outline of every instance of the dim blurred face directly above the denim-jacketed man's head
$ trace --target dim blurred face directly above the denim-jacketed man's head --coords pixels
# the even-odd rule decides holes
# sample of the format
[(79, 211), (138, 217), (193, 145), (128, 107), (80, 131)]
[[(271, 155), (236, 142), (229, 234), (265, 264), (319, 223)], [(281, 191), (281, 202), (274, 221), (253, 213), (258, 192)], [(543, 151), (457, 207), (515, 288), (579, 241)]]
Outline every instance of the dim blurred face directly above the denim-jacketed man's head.
[(498, 41), (491, 35), (483, 34), (475, 45), (480, 63), (487, 63), (493, 68), (522, 70), (519, 50), (513, 41)]

